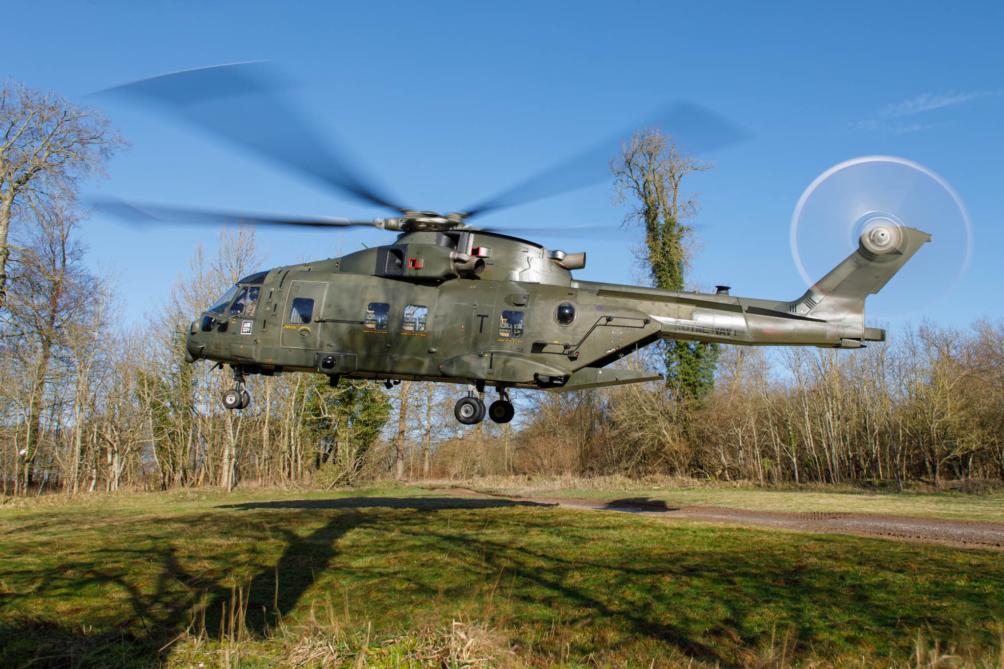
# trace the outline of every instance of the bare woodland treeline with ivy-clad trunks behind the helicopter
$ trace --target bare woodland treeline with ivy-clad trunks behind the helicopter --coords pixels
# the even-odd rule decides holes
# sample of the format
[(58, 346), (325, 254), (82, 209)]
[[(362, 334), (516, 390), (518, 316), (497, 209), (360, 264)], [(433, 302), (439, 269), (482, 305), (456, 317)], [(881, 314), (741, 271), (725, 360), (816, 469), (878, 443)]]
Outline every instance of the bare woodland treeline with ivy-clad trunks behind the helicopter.
[[(251, 406), (227, 410), (229, 373), (185, 363), (184, 337), (238, 278), (270, 266), (254, 229), (221, 229), (161, 304), (124, 320), (113, 272), (85, 262), (77, 197), (124, 141), (97, 112), (11, 81), (0, 102), (5, 495), (485, 474), (1004, 479), (1004, 322), (923, 322), (857, 351), (653, 345), (622, 364), (667, 373), (668, 384), (516, 392), (517, 420), (501, 426), (456, 422), (456, 386), (331, 388), (305, 374), (250, 377)], [(682, 222), (697, 207), (675, 189), (708, 165), (666, 141), (646, 129), (611, 171), (621, 197), (640, 183), (657, 193), (629, 219), (645, 231), (653, 284), (680, 287)], [(658, 163), (635, 172), (646, 155)], [(646, 190), (659, 170), (675, 175), (673, 190)]]

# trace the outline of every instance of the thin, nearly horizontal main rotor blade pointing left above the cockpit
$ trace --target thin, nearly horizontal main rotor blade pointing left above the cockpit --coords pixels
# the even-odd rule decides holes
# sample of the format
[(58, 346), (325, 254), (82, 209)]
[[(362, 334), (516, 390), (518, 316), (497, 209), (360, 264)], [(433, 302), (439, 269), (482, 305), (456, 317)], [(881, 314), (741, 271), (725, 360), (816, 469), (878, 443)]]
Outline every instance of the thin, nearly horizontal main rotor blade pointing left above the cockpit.
[[(307, 226), (311, 228), (348, 228), (367, 226), (393, 230), (396, 220), (352, 221), (328, 216), (292, 216), (270, 212), (227, 212), (211, 209), (183, 209), (150, 203), (129, 203), (121, 200), (94, 201), (102, 212), (116, 216), (130, 223), (150, 223), (163, 221), (196, 225), (254, 224), (264, 226)], [(391, 225), (388, 225), (391, 224)]]

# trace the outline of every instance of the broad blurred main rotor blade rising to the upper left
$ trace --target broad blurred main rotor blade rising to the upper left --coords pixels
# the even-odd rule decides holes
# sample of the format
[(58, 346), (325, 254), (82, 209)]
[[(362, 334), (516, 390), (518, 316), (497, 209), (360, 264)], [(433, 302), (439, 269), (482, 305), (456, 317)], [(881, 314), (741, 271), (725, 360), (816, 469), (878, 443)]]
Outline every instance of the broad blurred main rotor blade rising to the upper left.
[(338, 152), (324, 147), (320, 136), (276, 94), (280, 79), (268, 63), (247, 62), (162, 74), (100, 92), (155, 102), (329, 188), (404, 212), (371, 180), (339, 159)]

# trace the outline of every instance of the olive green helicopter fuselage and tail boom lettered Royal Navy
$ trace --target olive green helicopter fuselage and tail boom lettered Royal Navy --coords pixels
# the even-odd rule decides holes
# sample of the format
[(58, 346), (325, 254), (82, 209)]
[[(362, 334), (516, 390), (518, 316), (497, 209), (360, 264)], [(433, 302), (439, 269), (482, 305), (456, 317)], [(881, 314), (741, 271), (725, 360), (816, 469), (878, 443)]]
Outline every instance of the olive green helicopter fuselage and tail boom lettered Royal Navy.
[(794, 302), (666, 291), (575, 281), (569, 259), (492, 233), (406, 233), (249, 277), (192, 324), (187, 357), (246, 373), (558, 390), (659, 378), (600, 368), (660, 338), (857, 348), (884, 334), (864, 328), (863, 296), (818, 285)]

